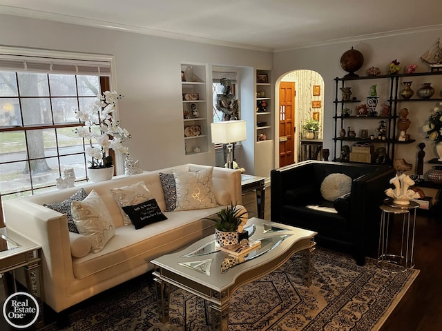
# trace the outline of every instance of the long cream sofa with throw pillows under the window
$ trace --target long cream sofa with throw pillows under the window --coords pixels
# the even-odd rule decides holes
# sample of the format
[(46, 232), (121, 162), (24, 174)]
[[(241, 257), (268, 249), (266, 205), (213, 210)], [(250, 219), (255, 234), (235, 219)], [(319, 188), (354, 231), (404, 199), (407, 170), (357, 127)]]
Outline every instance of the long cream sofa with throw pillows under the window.
[[(152, 259), (212, 234), (214, 223), (204, 217), (215, 214), (230, 202), (241, 203), (240, 171), (213, 167), (213, 193), (217, 207), (171, 212), (164, 212), (166, 204), (159, 175), (172, 170), (197, 172), (208, 168), (211, 167), (179, 165), (3, 201), (6, 228), (41, 245), (46, 303), (56, 312), (61, 312), (151, 270), (153, 265), (149, 261)], [(144, 181), (167, 219), (135, 230), (133, 225), (124, 225), (111, 189), (140, 181)], [(63, 201), (79, 188), (84, 188), (86, 193), (95, 190), (99, 194), (115, 224), (115, 237), (100, 252), (73, 257), (71, 245), (82, 236), (68, 231), (66, 214), (44, 207), (44, 204)]]

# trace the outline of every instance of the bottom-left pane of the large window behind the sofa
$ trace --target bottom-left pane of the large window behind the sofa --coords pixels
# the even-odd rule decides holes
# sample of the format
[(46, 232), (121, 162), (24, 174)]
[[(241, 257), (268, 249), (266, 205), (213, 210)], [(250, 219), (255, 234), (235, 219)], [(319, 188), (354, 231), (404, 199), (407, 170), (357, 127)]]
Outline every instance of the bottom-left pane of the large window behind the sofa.
[(27, 162), (0, 164), (1, 199), (4, 194), (30, 190), (29, 172), (26, 172)]

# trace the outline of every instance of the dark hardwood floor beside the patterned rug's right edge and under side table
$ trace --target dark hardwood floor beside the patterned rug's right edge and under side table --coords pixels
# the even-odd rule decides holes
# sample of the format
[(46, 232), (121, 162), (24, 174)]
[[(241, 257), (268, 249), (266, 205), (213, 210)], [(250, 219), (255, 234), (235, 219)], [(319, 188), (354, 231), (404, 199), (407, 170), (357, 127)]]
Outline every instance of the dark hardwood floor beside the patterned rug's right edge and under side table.
[[(271, 219), (270, 190), (266, 188), (265, 219)], [(254, 192), (244, 194), (242, 204), (251, 211), (249, 217), (257, 216)], [(421, 272), (381, 331), (442, 330), (442, 213), (418, 211), (414, 261)]]

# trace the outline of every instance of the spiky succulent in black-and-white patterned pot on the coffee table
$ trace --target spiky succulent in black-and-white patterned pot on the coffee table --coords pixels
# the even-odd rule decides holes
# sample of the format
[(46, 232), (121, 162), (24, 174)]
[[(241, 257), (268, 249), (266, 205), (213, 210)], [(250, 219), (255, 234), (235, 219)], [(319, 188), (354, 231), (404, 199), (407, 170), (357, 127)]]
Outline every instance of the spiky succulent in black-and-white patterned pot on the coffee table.
[(240, 205), (227, 205), (227, 208), (216, 213), (215, 240), (219, 245), (232, 246), (239, 243), (239, 232), (247, 222), (247, 210)]

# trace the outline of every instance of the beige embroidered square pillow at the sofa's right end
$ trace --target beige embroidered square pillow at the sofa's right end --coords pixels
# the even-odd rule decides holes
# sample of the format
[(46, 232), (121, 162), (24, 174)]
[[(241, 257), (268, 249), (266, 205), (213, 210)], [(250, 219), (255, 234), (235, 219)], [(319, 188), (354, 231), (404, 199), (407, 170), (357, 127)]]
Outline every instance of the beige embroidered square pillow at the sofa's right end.
[(173, 172), (177, 190), (175, 210), (213, 208), (216, 203), (212, 183), (213, 168), (198, 172)]

